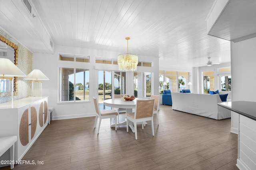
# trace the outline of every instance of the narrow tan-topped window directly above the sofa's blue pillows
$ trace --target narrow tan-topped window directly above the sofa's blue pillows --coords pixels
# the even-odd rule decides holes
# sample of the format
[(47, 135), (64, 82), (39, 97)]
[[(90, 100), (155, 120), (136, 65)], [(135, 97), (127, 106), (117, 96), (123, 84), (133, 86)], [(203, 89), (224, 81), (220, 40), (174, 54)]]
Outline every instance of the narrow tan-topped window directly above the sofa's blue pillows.
[(214, 91), (214, 71), (203, 72), (204, 94), (209, 94), (209, 90)]

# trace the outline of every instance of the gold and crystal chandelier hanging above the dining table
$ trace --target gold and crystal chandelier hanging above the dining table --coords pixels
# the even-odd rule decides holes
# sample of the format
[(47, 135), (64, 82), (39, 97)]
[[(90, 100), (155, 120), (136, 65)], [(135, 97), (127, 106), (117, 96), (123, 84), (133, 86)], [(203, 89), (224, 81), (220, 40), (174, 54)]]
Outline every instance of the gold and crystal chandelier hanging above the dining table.
[(118, 55), (118, 69), (121, 71), (136, 71), (138, 65), (138, 56), (128, 54), (128, 40), (130, 37), (126, 37), (125, 39), (127, 40), (127, 54)]

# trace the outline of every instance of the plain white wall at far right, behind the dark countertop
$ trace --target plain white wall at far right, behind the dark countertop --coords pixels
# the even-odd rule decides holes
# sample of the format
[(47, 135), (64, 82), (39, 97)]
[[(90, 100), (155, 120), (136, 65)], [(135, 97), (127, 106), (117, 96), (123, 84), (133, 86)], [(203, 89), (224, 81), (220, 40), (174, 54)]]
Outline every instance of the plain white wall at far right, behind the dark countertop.
[[(256, 38), (231, 43), (232, 101), (256, 102)], [(238, 113), (232, 112), (231, 131), (238, 133)]]

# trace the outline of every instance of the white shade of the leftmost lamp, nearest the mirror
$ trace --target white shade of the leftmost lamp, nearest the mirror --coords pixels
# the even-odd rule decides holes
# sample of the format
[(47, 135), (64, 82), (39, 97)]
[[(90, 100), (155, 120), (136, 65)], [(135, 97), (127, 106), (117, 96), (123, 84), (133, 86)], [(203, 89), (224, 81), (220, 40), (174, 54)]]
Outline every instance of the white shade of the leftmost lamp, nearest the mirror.
[(1, 77), (25, 77), (26, 74), (20, 70), (12, 61), (0, 58), (0, 76)]

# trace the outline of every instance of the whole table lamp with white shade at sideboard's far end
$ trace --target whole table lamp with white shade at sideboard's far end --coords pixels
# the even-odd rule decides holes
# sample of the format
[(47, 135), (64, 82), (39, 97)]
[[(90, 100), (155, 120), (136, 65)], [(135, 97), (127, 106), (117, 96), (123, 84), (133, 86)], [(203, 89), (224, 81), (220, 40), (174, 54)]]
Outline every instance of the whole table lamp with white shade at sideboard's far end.
[[(31, 91), (31, 96), (40, 96), (42, 97), (42, 80), (49, 80), (46, 75), (41, 70), (34, 69), (32, 72), (28, 74), (24, 78), (24, 80), (31, 80), (32, 84), (32, 91)], [(38, 92), (40, 91), (40, 93)]]

